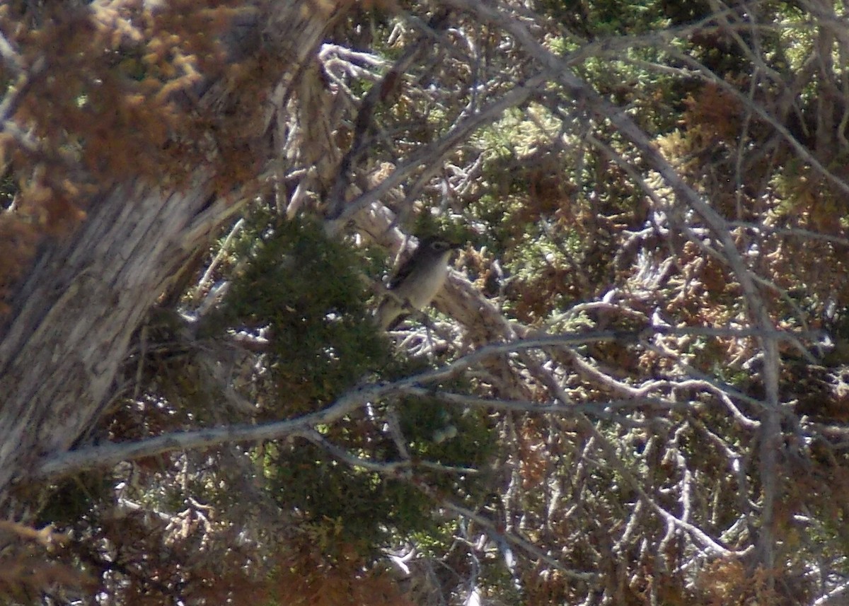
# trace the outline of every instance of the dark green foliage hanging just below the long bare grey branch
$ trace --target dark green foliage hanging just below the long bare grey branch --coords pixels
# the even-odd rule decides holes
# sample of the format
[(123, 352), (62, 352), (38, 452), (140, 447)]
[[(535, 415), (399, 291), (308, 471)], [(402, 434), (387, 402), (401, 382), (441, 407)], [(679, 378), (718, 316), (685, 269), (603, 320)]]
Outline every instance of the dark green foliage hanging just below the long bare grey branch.
[[(297, 512), (310, 532), (327, 539), (319, 547), (331, 557), (343, 547), (371, 554), (393, 537), (444, 541), (437, 538), (446, 529), (434, 516), (432, 491), (459, 495), (471, 506), (480, 505), (489, 494), (497, 441), (485, 415), (435, 398), (404, 398), (393, 407), (411, 457), (410, 467), (398, 474), (412, 474), (413, 484), (427, 485), (428, 491), (419, 491), (402, 477), (351, 468), (309, 442), (267, 448), (264, 468), (270, 494), (280, 507)], [(387, 412), (385, 407), (377, 410)], [(383, 435), (363, 435), (363, 426), (354, 418), (345, 424), (346, 430), (335, 428), (329, 435), (374, 463), (402, 461), (394, 444)]]

